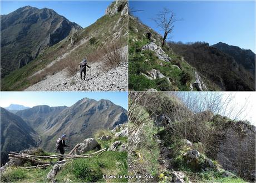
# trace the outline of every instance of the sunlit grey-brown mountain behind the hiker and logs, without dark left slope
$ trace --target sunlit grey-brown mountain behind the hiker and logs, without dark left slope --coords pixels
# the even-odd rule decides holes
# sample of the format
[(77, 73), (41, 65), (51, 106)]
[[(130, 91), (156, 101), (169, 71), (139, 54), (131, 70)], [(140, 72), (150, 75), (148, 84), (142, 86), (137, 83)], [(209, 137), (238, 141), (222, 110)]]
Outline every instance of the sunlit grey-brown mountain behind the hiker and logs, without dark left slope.
[(41, 146), (53, 151), (56, 139), (67, 134), (68, 144), (92, 137), (99, 129), (111, 129), (127, 122), (127, 111), (109, 100), (84, 98), (70, 107), (35, 106), (19, 111), (41, 136)]

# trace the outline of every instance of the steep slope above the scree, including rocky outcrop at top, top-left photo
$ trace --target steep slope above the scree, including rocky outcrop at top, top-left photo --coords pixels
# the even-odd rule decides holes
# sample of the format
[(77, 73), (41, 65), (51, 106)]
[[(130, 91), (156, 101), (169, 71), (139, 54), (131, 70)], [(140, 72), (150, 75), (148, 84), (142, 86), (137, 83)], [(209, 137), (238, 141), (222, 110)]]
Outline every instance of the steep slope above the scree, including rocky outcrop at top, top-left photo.
[[(78, 63), (85, 57), (89, 64), (97, 62), (97, 65), (100, 65), (100, 49), (107, 48), (112, 42), (119, 42), (119, 48), (127, 45), (127, 1), (114, 1), (106, 14), (95, 23), (72, 32), (61, 42), (45, 49), (33, 62), (7, 75), (2, 79), (1, 89), (24, 90), (46, 77), (60, 74), (68, 65), (75, 65), (73, 67), (76, 70)], [(125, 64), (127, 65), (127, 60)], [(62, 84), (66, 82), (67, 76), (61, 74), (60, 78)], [(122, 78), (126, 79), (127, 75)], [(114, 80), (115, 78), (113, 82)], [(85, 82), (83, 85), (86, 85)]]

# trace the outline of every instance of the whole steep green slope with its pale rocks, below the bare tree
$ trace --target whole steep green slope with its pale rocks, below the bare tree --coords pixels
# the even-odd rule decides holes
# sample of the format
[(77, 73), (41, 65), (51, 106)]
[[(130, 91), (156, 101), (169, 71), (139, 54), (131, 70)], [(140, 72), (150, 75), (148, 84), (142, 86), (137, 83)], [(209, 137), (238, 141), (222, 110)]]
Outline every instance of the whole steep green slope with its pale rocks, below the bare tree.
[[(147, 38), (148, 33), (151, 38)], [(139, 19), (129, 17), (129, 89), (216, 90), (169, 45), (161, 47), (161, 39)]]

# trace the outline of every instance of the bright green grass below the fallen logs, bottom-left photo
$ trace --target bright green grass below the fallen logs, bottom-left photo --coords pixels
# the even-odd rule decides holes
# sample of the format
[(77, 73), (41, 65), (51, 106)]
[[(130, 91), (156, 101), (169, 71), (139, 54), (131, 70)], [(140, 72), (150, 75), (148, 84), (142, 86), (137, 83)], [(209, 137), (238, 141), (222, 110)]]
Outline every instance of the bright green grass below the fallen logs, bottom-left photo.
[[(102, 135), (111, 135), (112, 139), (107, 141), (97, 139), (101, 149), (109, 148), (116, 140), (120, 140), (124, 144), (127, 143), (127, 138), (115, 138), (115, 135), (109, 130), (95, 133), (95, 138)], [(97, 150), (88, 151), (86, 154), (95, 151)], [(40, 155), (49, 155), (49, 153), (42, 151)], [(31, 165), (25, 163), (22, 166)], [(1, 182), (47, 182), (47, 174), (53, 167), (51, 165), (43, 169), (24, 169), (22, 166), (7, 167), (7, 170), (1, 175)], [(126, 174), (127, 152), (105, 151), (99, 156), (68, 161), (58, 172), (55, 180), (56, 182), (127, 182), (127, 179), (124, 178)], [(122, 175), (122, 178), (105, 179), (103, 175)]]

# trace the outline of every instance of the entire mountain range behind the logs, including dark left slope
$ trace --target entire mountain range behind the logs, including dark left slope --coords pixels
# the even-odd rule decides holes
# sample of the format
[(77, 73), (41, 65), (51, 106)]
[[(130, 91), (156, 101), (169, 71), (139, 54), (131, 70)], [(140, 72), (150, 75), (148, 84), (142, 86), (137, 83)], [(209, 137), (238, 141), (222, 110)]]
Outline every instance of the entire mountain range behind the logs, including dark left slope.
[[(1, 108), (1, 153), (19, 151), (30, 146), (41, 146), (55, 151), (56, 140), (67, 135), (70, 149), (97, 130), (112, 129), (127, 123), (127, 111), (110, 100), (84, 98), (70, 107), (47, 105), (10, 113)], [(18, 140), (17, 140), (18, 139)], [(3, 157), (1, 156), (1, 161)]]

